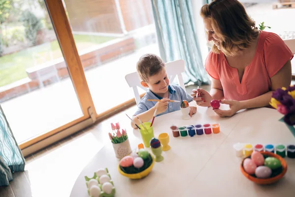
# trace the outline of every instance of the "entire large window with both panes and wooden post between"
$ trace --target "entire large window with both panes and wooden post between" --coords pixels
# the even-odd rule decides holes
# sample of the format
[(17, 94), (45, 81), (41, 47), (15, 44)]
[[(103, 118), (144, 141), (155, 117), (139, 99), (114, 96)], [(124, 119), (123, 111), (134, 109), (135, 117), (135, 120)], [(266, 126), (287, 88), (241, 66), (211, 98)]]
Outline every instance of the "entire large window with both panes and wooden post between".
[(21, 149), (131, 103), (145, 53), (159, 55), (150, 0), (1, 4), (0, 102)]

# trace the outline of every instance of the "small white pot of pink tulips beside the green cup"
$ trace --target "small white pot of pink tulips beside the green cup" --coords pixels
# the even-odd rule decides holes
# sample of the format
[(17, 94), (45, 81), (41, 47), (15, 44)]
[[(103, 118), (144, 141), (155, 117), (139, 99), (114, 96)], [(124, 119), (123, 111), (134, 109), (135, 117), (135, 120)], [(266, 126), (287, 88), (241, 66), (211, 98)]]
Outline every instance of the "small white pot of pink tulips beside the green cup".
[(111, 123), (111, 127), (112, 132), (109, 132), (109, 137), (112, 141), (116, 157), (122, 159), (132, 152), (126, 130), (120, 130), (119, 123), (115, 125)]

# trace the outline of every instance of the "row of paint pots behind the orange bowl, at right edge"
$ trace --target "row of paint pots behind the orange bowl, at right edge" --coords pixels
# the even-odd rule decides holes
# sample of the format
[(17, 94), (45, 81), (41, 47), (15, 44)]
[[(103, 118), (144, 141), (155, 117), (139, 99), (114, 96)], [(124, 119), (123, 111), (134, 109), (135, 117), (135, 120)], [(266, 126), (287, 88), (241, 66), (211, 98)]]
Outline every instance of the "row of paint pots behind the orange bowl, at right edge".
[(288, 158), (295, 158), (295, 144), (289, 144), (285, 146), (284, 144), (256, 144), (253, 146), (252, 144), (243, 144), (236, 143), (234, 144), (234, 149), (236, 150), (237, 157), (248, 157), (252, 154), (253, 151), (268, 151), (275, 153), (282, 158), (286, 156)]

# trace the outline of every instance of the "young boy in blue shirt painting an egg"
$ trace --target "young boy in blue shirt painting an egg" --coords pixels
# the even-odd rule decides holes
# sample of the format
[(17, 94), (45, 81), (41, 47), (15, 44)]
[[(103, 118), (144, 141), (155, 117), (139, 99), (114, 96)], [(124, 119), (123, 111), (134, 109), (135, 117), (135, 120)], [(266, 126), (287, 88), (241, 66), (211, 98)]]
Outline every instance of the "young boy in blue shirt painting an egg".
[[(140, 125), (137, 117), (143, 122), (152, 119), (154, 111), (160, 116), (169, 112), (180, 110), (180, 102), (169, 102), (170, 100), (187, 100), (193, 98), (188, 95), (180, 86), (170, 84), (165, 63), (154, 54), (143, 55), (137, 62), (137, 72), (141, 78), (141, 85), (148, 88), (146, 95), (141, 99), (138, 109), (134, 114), (133, 121)], [(158, 99), (160, 101), (148, 101), (148, 99)], [(197, 112), (197, 107), (190, 106), (189, 115)], [(137, 128), (131, 123), (133, 128)]]

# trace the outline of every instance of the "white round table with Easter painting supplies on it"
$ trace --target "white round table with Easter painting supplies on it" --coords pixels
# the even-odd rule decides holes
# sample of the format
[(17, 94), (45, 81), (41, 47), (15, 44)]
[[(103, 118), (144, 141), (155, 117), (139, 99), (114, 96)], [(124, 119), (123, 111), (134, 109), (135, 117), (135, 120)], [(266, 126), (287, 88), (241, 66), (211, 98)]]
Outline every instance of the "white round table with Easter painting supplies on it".
[[(212, 108), (199, 106), (189, 120), (182, 120), (180, 111), (156, 117), (154, 135), (167, 132), (171, 150), (162, 153), (164, 160), (155, 163), (146, 178), (131, 180), (119, 174), (119, 160), (110, 142), (82, 170), (71, 197), (88, 197), (84, 176), (92, 177), (97, 169), (105, 167), (116, 187), (116, 197), (294, 197), (295, 159), (285, 159), (288, 170), (283, 179), (262, 186), (240, 172), (241, 158), (233, 149), (237, 142), (295, 144), (295, 137), (278, 121), (281, 117), (274, 109), (258, 108), (220, 118)], [(205, 123), (219, 123), (221, 132), (175, 138), (170, 130), (173, 124), (180, 127)], [(142, 143), (138, 130), (127, 134), (132, 149)]]

